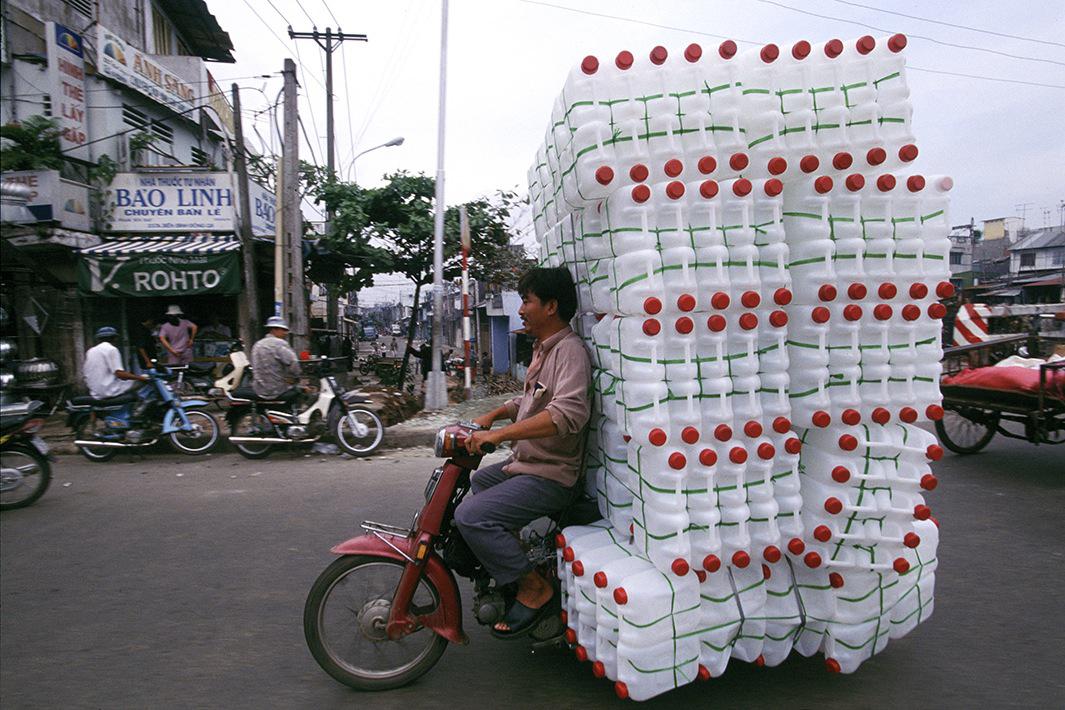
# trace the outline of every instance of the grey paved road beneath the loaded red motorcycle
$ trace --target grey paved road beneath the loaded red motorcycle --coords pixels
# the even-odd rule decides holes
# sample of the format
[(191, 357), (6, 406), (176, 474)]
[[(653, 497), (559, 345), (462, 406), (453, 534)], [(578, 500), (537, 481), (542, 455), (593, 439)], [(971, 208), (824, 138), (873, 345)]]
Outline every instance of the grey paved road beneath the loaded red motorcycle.
[[(15, 708), (607, 707), (572, 655), (468, 626), (415, 684), (360, 694), (318, 670), (304, 598), (366, 517), (409, 519), (432, 459), (66, 457), (34, 507), (0, 518), (0, 696)], [(1061, 707), (1065, 450), (948, 455), (934, 616), (851, 676), (796, 655), (734, 663), (653, 706)], [(469, 604), (469, 597), (465, 600)], [(675, 706), (674, 706), (675, 707)]]

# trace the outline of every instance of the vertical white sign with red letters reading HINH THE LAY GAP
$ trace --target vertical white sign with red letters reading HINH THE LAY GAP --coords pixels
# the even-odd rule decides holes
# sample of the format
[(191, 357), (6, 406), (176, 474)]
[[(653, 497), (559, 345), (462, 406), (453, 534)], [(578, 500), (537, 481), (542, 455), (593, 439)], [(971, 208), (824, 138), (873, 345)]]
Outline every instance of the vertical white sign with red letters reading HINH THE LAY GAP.
[(60, 147), (70, 158), (87, 161), (88, 125), (85, 112), (85, 52), (81, 35), (56, 22), (46, 22), (48, 79), (52, 116), (59, 121)]

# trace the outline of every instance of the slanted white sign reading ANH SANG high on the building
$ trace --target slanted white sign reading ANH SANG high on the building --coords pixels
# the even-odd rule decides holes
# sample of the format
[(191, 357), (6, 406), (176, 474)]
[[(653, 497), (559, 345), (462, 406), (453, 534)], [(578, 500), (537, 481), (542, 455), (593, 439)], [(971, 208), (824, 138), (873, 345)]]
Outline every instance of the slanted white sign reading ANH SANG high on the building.
[(196, 92), (185, 80), (100, 24), (97, 26), (96, 49), (96, 70), (101, 76), (126, 84), (178, 113), (195, 109)]

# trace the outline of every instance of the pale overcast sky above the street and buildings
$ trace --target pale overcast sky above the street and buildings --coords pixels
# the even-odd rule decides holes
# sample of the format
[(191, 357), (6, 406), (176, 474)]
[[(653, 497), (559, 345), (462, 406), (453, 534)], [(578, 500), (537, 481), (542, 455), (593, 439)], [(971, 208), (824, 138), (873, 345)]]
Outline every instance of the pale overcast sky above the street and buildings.
[[(310, 137), (310, 145), (301, 141), (300, 158), (325, 164), (324, 52), (313, 40), (290, 40), (286, 28), (340, 27), (366, 34), (368, 42), (345, 42), (333, 54), (339, 171), (371, 186), (395, 170), (435, 174), (440, 0), (208, 0), (208, 7), (232, 38), (236, 60), (212, 64), (211, 71), (226, 87), (235, 81), (248, 89), (242, 89), (245, 120), (252, 121), (262, 143), (255, 130), (246, 133), (260, 149), (272, 142), (278, 150), (271, 115), (257, 112), (275, 101), (283, 59), (291, 56), (299, 65), (299, 113)], [(526, 174), (552, 102), (586, 54), (645, 53), (656, 45), (683, 51), (692, 42), (716, 47), (725, 36), (742, 50), (767, 42), (790, 46), (798, 39), (816, 44), (896, 32), (908, 37), (920, 148), (914, 171), (954, 178), (952, 221), (1023, 211), (1029, 227), (1060, 224), (1065, 201), (1061, 0), (452, 0), (445, 200), (456, 204), (497, 189), (527, 192)], [(266, 73), (274, 76), (257, 78)], [(405, 138), (402, 146), (365, 153), (353, 168), (355, 154), (397, 136)], [(400, 282), (383, 277), (382, 285), (360, 299), (394, 300), (410, 292)]]

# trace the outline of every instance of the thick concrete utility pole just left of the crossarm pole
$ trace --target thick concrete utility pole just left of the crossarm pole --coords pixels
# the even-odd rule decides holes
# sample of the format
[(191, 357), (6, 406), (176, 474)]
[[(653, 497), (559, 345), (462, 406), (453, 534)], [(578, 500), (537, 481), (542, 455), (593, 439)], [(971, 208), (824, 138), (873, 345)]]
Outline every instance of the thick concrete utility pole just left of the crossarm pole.
[(285, 317), (297, 351), (310, 347), (307, 292), (304, 290), (304, 216), (299, 210), (299, 134), (297, 133), (296, 63), (284, 60), (284, 145), (281, 147), (281, 221), (284, 225)]

